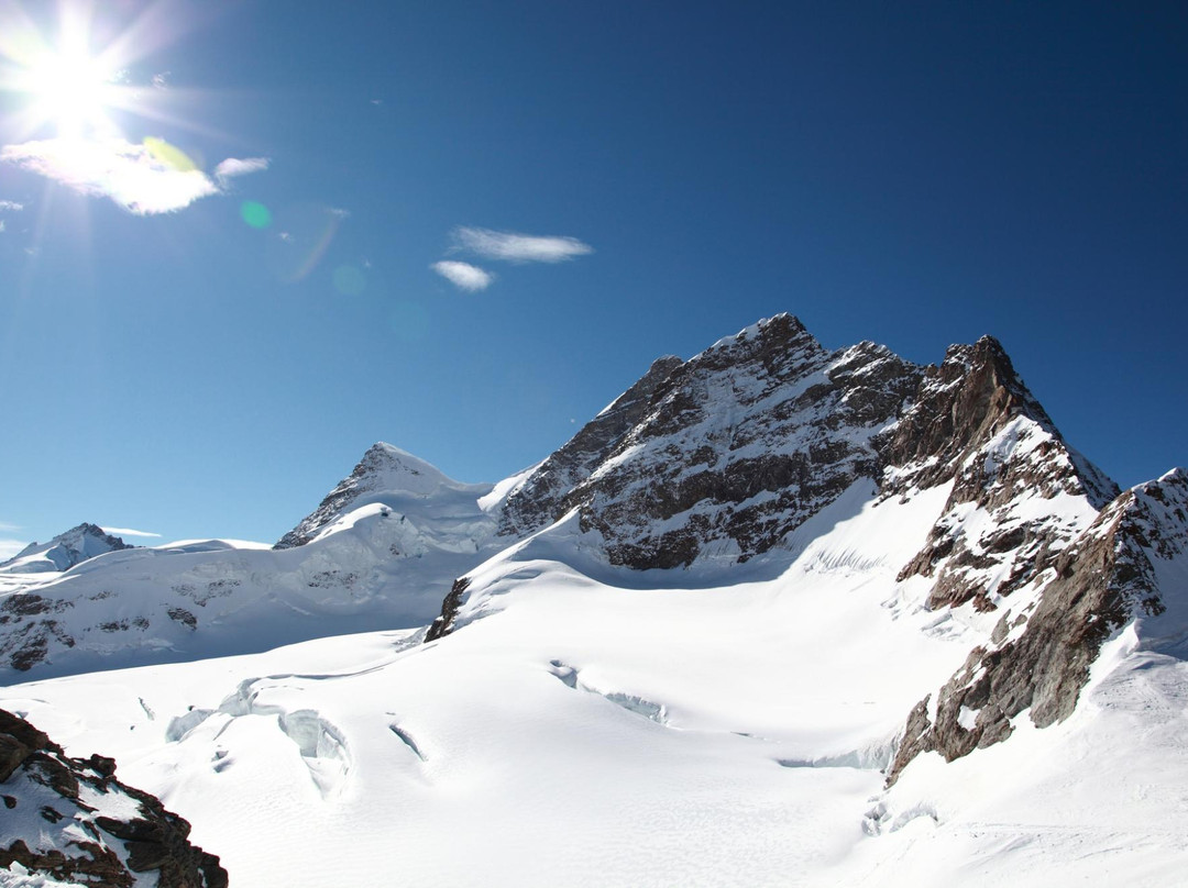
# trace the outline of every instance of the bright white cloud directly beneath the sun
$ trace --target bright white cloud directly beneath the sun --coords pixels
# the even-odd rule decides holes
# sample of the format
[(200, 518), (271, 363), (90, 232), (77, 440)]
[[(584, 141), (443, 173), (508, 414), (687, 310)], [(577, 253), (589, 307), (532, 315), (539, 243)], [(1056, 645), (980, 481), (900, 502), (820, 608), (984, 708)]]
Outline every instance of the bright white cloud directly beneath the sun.
[[(261, 158), (223, 160), (211, 179), (197, 169), (172, 163), (163, 140), (133, 145), (122, 139), (45, 139), (0, 148), (0, 161), (39, 173), (90, 197), (108, 197), (138, 216), (175, 213), (225, 190), (226, 173), (240, 176), (260, 169)], [(169, 147), (169, 146), (166, 146)], [(182, 157), (179, 151), (175, 152)], [(255, 164), (255, 165), (253, 165)], [(228, 166), (229, 165), (229, 166)], [(245, 165), (253, 165), (245, 169)]]

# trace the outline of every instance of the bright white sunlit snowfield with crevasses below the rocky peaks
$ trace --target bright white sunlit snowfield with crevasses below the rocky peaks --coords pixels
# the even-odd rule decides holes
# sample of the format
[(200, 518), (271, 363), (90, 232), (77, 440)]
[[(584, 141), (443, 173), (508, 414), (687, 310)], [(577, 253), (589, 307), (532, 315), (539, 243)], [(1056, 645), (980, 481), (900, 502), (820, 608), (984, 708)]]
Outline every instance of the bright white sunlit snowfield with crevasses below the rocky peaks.
[(429, 645), (330, 638), (0, 705), (114, 755), (236, 886), (1177, 883), (1188, 677), (1133, 628), (1068, 722), (1020, 717), (883, 789), (906, 712), (993, 621), (896, 582), (947, 493), (859, 482), (728, 585), (612, 570), (561, 522), (472, 571)]

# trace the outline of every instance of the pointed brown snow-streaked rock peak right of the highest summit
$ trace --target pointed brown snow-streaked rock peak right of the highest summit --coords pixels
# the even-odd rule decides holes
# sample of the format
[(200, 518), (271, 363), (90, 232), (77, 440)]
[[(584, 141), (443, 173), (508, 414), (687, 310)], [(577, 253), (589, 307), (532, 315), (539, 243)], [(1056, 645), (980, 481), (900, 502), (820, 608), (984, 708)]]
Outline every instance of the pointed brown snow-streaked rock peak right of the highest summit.
[[(912, 407), (880, 444), (884, 496), (953, 482), (928, 544), (899, 575), (935, 577), (934, 608), (973, 600), (993, 609), (1118, 494), (1068, 448), (990, 336), (953, 345), (929, 367)], [(1020, 509), (1029, 500), (1044, 502)]]

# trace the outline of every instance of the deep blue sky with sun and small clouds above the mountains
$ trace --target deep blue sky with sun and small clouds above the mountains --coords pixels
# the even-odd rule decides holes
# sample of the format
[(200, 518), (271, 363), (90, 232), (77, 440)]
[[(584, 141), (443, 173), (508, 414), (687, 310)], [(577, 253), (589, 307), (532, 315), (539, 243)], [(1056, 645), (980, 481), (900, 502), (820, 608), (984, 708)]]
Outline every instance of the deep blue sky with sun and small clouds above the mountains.
[(1188, 459), (1183, 4), (87, 8), (0, 1), (10, 546), (273, 540), (380, 439), (495, 481), (779, 311)]

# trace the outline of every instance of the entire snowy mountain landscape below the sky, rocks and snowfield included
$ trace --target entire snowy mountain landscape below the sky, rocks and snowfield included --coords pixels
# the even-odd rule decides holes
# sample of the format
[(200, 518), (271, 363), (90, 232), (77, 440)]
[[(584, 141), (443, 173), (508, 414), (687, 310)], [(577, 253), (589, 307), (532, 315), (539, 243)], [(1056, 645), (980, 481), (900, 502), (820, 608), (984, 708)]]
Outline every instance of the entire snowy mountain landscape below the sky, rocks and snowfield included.
[(101, 537), (0, 565), (0, 886), (1184, 881), (1188, 474), (990, 337), (782, 315), (497, 484), (377, 444), (276, 545)]

